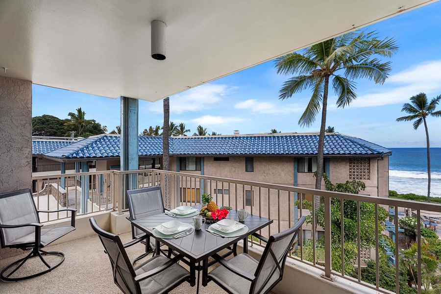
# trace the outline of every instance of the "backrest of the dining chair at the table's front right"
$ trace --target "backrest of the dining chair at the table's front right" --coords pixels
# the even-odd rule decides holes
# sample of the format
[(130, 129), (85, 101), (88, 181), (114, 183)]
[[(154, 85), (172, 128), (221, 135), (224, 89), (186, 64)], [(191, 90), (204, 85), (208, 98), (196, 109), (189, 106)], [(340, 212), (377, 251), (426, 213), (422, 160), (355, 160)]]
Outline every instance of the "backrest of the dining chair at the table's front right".
[(250, 294), (268, 293), (282, 280), (288, 252), (291, 250), (294, 239), (305, 219), (303, 216), (293, 227), (270, 236), (254, 273), (256, 279), (251, 284)]

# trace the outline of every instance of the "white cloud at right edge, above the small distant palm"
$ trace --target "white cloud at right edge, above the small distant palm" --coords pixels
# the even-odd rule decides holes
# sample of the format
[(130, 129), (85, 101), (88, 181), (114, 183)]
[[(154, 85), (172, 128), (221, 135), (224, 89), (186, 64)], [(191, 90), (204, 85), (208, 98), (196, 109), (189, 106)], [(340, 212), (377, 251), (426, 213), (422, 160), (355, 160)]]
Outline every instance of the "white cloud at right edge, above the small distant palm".
[(407, 102), (409, 98), (424, 92), (431, 98), (441, 91), (441, 60), (425, 62), (392, 74), (387, 85), (392, 89), (381, 93), (365, 94), (353, 101), (350, 107), (382, 106)]

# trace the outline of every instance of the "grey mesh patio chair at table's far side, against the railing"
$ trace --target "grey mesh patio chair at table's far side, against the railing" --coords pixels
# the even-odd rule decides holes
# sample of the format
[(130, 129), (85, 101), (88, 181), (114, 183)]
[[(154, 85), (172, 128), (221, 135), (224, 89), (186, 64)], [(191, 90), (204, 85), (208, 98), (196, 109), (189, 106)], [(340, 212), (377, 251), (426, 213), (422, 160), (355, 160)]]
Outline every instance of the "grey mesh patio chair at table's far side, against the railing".
[[(135, 189), (127, 191), (127, 200), (129, 205), (130, 216), (127, 220), (134, 221), (142, 218), (147, 218), (157, 214), (164, 213), (169, 209), (164, 208), (164, 200), (162, 198), (161, 187), (150, 187), (143, 189)], [(146, 245), (146, 253), (141, 254), (133, 261), (133, 265), (138, 260), (146, 257), (155, 249), (155, 242), (150, 242), (150, 236), (141, 231), (132, 224), (132, 239), (142, 238), (142, 243)], [(163, 253), (165, 253), (163, 251)], [(168, 250), (168, 257), (170, 258), (172, 250)]]

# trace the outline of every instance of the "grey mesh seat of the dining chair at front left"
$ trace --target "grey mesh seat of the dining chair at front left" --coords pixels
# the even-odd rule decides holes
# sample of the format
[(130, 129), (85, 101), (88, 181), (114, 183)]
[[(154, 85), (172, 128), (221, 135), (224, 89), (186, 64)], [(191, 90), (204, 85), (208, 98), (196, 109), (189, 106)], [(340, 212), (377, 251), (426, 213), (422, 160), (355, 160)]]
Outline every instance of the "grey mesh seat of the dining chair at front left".
[[(156, 269), (165, 264), (169, 259), (162, 255), (156, 255), (149, 259), (146, 263), (139, 266), (135, 273), (136, 275), (143, 274), (149, 270)], [(172, 265), (167, 270), (147, 278), (140, 282), (142, 294), (161, 294), (168, 293), (171, 289), (181, 284), (181, 280), (188, 276), (188, 271), (178, 264)]]

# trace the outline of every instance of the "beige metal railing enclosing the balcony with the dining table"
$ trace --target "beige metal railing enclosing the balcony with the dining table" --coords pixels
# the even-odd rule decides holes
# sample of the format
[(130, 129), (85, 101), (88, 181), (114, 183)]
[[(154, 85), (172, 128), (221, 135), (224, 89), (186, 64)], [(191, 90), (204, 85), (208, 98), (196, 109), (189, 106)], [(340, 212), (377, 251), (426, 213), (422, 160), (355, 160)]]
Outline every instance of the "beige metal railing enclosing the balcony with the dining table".
[[(51, 205), (63, 207), (67, 205), (78, 209), (78, 215), (105, 210), (113, 210), (122, 214), (127, 210), (125, 191), (130, 190), (129, 187), (152, 186), (162, 187), (164, 204), (169, 208), (199, 204), (201, 194), (205, 193), (211, 194), (213, 201), (218, 206), (231, 206), (233, 209), (245, 208), (253, 215), (273, 219), (274, 222), (269, 227), (259, 232), (265, 237), (293, 226), (298, 218), (309, 214), (309, 224), (303, 225), (295, 250), (290, 252), (289, 257), (323, 270), (323, 278), (333, 280), (339, 276), (379, 293), (391, 293), (380, 287), (381, 263), (391, 263), (390, 267), (395, 272), (395, 292), (399, 293), (400, 291), (400, 269), (404, 269), (406, 265), (402, 264), (398, 257), (395, 257), (401, 249), (399, 242), (391, 245), (386, 241), (389, 240), (389, 237), (395, 241), (398, 240), (398, 232), (401, 231), (399, 219), (404, 216), (404, 212), (410, 216), (414, 215), (417, 220), (420, 220), (417, 221), (416, 231), (415, 264), (417, 272), (415, 278), (417, 281), (421, 281), (422, 278), (422, 216), (426, 212), (441, 213), (441, 205), (426, 202), (161, 170), (82, 172), (69, 174), (68, 177), (58, 174), (46, 177), (36, 176), (32, 179), (39, 183), (52, 182), (53, 186), (58, 187), (58, 190), (52, 188), (55, 193), (58, 193), (58, 197), (53, 196), (54, 192), (50, 192), (49, 189), (35, 194), (37, 208), (49, 210)], [(81, 187), (64, 185), (67, 188), (61, 188), (63, 181), (68, 183), (73, 179), (76, 179), (75, 183), (82, 183)], [(84, 189), (85, 187), (89, 189)], [(315, 208), (316, 200), (315, 197), (311, 197), (312, 195), (320, 196), (319, 211)], [(306, 198), (310, 202), (305, 201)], [(309, 209), (305, 209), (304, 205), (308, 205)], [(347, 219), (348, 211), (346, 210), (348, 209), (356, 216), (355, 223)], [(374, 218), (372, 223), (375, 228), (363, 227), (361, 219), (368, 213)], [(389, 219), (385, 219), (385, 213), (388, 214)], [(67, 215), (59, 214), (57, 218), (67, 218)], [(44, 220), (51, 221), (47, 218)], [(319, 223), (316, 223), (317, 221)], [(340, 236), (336, 236), (336, 228), (340, 231)], [(348, 229), (352, 230), (352, 240), (345, 240)], [(331, 232), (334, 232), (334, 235)], [(366, 236), (368, 233), (373, 235)], [(319, 235), (323, 235), (323, 237), (319, 237)], [(366, 244), (366, 239), (370, 239), (372, 242)], [(355, 249), (347, 248), (347, 241), (354, 244)], [(251, 239), (251, 244), (252, 246), (265, 246), (263, 242), (253, 239)], [(355, 258), (350, 257), (351, 260), (347, 260), (347, 251), (350, 250), (355, 250)], [(374, 253), (371, 256), (369, 252)], [(362, 268), (366, 266), (367, 259), (371, 259), (375, 263), (376, 280), (374, 284), (369, 284), (362, 279)], [(348, 264), (352, 270), (346, 268)], [(421, 293), (421, 283), (416, 288), (417, 293)]]

